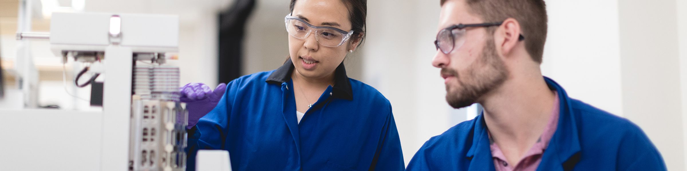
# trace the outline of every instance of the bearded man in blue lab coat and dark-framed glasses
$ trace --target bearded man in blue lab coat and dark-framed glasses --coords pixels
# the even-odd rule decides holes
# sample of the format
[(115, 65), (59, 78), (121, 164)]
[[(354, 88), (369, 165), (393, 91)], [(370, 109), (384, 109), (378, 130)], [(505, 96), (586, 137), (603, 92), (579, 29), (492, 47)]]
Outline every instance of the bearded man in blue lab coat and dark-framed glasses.
[(447, 101), (484, 112), (432, 137), (407, 170), (666, 170), (642, 129), (541, 75), (543, 0), (442, 0)]

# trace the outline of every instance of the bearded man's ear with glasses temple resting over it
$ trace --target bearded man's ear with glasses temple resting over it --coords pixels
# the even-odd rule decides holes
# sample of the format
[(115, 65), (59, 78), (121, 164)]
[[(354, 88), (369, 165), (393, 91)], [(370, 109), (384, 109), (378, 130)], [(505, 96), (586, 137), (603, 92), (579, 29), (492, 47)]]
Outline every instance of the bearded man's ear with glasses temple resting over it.
[(496, 34), (497, 48), (501, 49), (503, 55), (508, 56), (508, 54), (513, 53), (515, 45), (519, 42), (521, 34), (520, 23), (515, 18), (508, 18), (499, 26)]

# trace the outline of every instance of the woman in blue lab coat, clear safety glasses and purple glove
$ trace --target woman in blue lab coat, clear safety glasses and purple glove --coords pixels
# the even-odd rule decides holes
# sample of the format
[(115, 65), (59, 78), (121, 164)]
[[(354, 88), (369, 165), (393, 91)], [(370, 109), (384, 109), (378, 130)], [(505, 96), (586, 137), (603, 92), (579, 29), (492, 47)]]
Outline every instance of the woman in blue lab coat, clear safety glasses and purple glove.
[(349, 79), (343, 66), (364, 38), (366, 6), (365, 0), (291, 0), (283, 66), (215, 92), (199, 83), (183, 87), (187, 170), (194, 170), (199, 149), (228, 150), (233, 170), (403, 170), (389, 101)]

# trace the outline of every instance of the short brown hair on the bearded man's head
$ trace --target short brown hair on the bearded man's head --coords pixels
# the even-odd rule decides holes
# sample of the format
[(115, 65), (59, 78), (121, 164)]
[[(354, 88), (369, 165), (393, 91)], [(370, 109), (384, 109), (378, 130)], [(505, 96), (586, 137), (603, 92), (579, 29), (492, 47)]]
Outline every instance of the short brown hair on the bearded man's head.
[[(441, 5), (447, 0), (441, 0)], [(455, 1), (455, 0), (453, 0)], [(541, 64), (546, 42), (548, 16), (543, 0), (464, 0), (468, 12), (482, 17), (484, 22), (500, 22), (515, 18), (525, 36), (525, 49), (532, 60)], [(495, 29), (491, 29), (492, 33)]]

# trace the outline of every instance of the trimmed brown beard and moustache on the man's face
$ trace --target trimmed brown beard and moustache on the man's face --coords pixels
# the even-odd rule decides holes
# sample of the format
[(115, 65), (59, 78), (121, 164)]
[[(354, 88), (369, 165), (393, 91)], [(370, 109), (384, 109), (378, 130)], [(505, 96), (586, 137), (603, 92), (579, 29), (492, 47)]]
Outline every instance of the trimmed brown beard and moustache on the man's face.
[(454, 91), (450, 91), (446, 85), (446, 101), (455, 109), (477, 103), (484, 94), (499, 88), (508, 78), (508, 70), (496, 53), (493, 36), (487, 39), (480, 60), (469, 66), (464, 75), (458, 75), (451, 68), (442, 68), (441, 73), (453, 74), (458, 85), (462, 86), (462, 89), (454, 87)]

